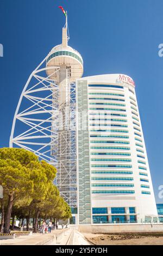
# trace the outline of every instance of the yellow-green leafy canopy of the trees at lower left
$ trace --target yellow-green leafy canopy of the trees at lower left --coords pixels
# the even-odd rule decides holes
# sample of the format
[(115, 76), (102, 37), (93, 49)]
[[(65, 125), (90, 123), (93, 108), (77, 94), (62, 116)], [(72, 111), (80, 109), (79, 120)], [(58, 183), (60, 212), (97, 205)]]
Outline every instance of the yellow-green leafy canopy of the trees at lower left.
[(0, 185), (4, 190), (5, 219), (9, 222), (11, 210), (17, 216), (28, 218), (38, 218), (39, 214), (58, 220), (71, 217), (70, 207), (53, 184), (56, 173), (55, 167), (39, 161), (30, 151), (0, 149)]

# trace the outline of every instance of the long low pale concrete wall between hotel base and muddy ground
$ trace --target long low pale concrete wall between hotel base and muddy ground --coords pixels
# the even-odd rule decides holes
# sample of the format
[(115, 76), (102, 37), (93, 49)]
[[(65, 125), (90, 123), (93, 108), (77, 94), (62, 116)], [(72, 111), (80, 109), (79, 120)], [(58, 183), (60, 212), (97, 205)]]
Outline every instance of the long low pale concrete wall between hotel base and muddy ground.
[(94, 224), (94, 225), (70, 225), (71, 228), (82, 233), (146, 233), (163, 232), (163, 224)]

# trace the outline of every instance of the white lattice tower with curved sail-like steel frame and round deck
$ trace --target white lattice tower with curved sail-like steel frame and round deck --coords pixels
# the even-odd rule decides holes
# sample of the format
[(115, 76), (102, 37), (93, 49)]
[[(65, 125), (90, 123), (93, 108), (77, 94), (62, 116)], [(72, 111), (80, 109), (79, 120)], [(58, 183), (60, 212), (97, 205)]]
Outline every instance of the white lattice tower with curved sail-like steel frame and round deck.
[(10, 147), (33, 151), (40, 159), (57, 166), (60, 194), (77, 208), (75, 81), (83, 75), (83, 59), (67, 45), (67, 30), (66, 16), (62, 44), (49, 52), (23, 89), (12, 124)]

